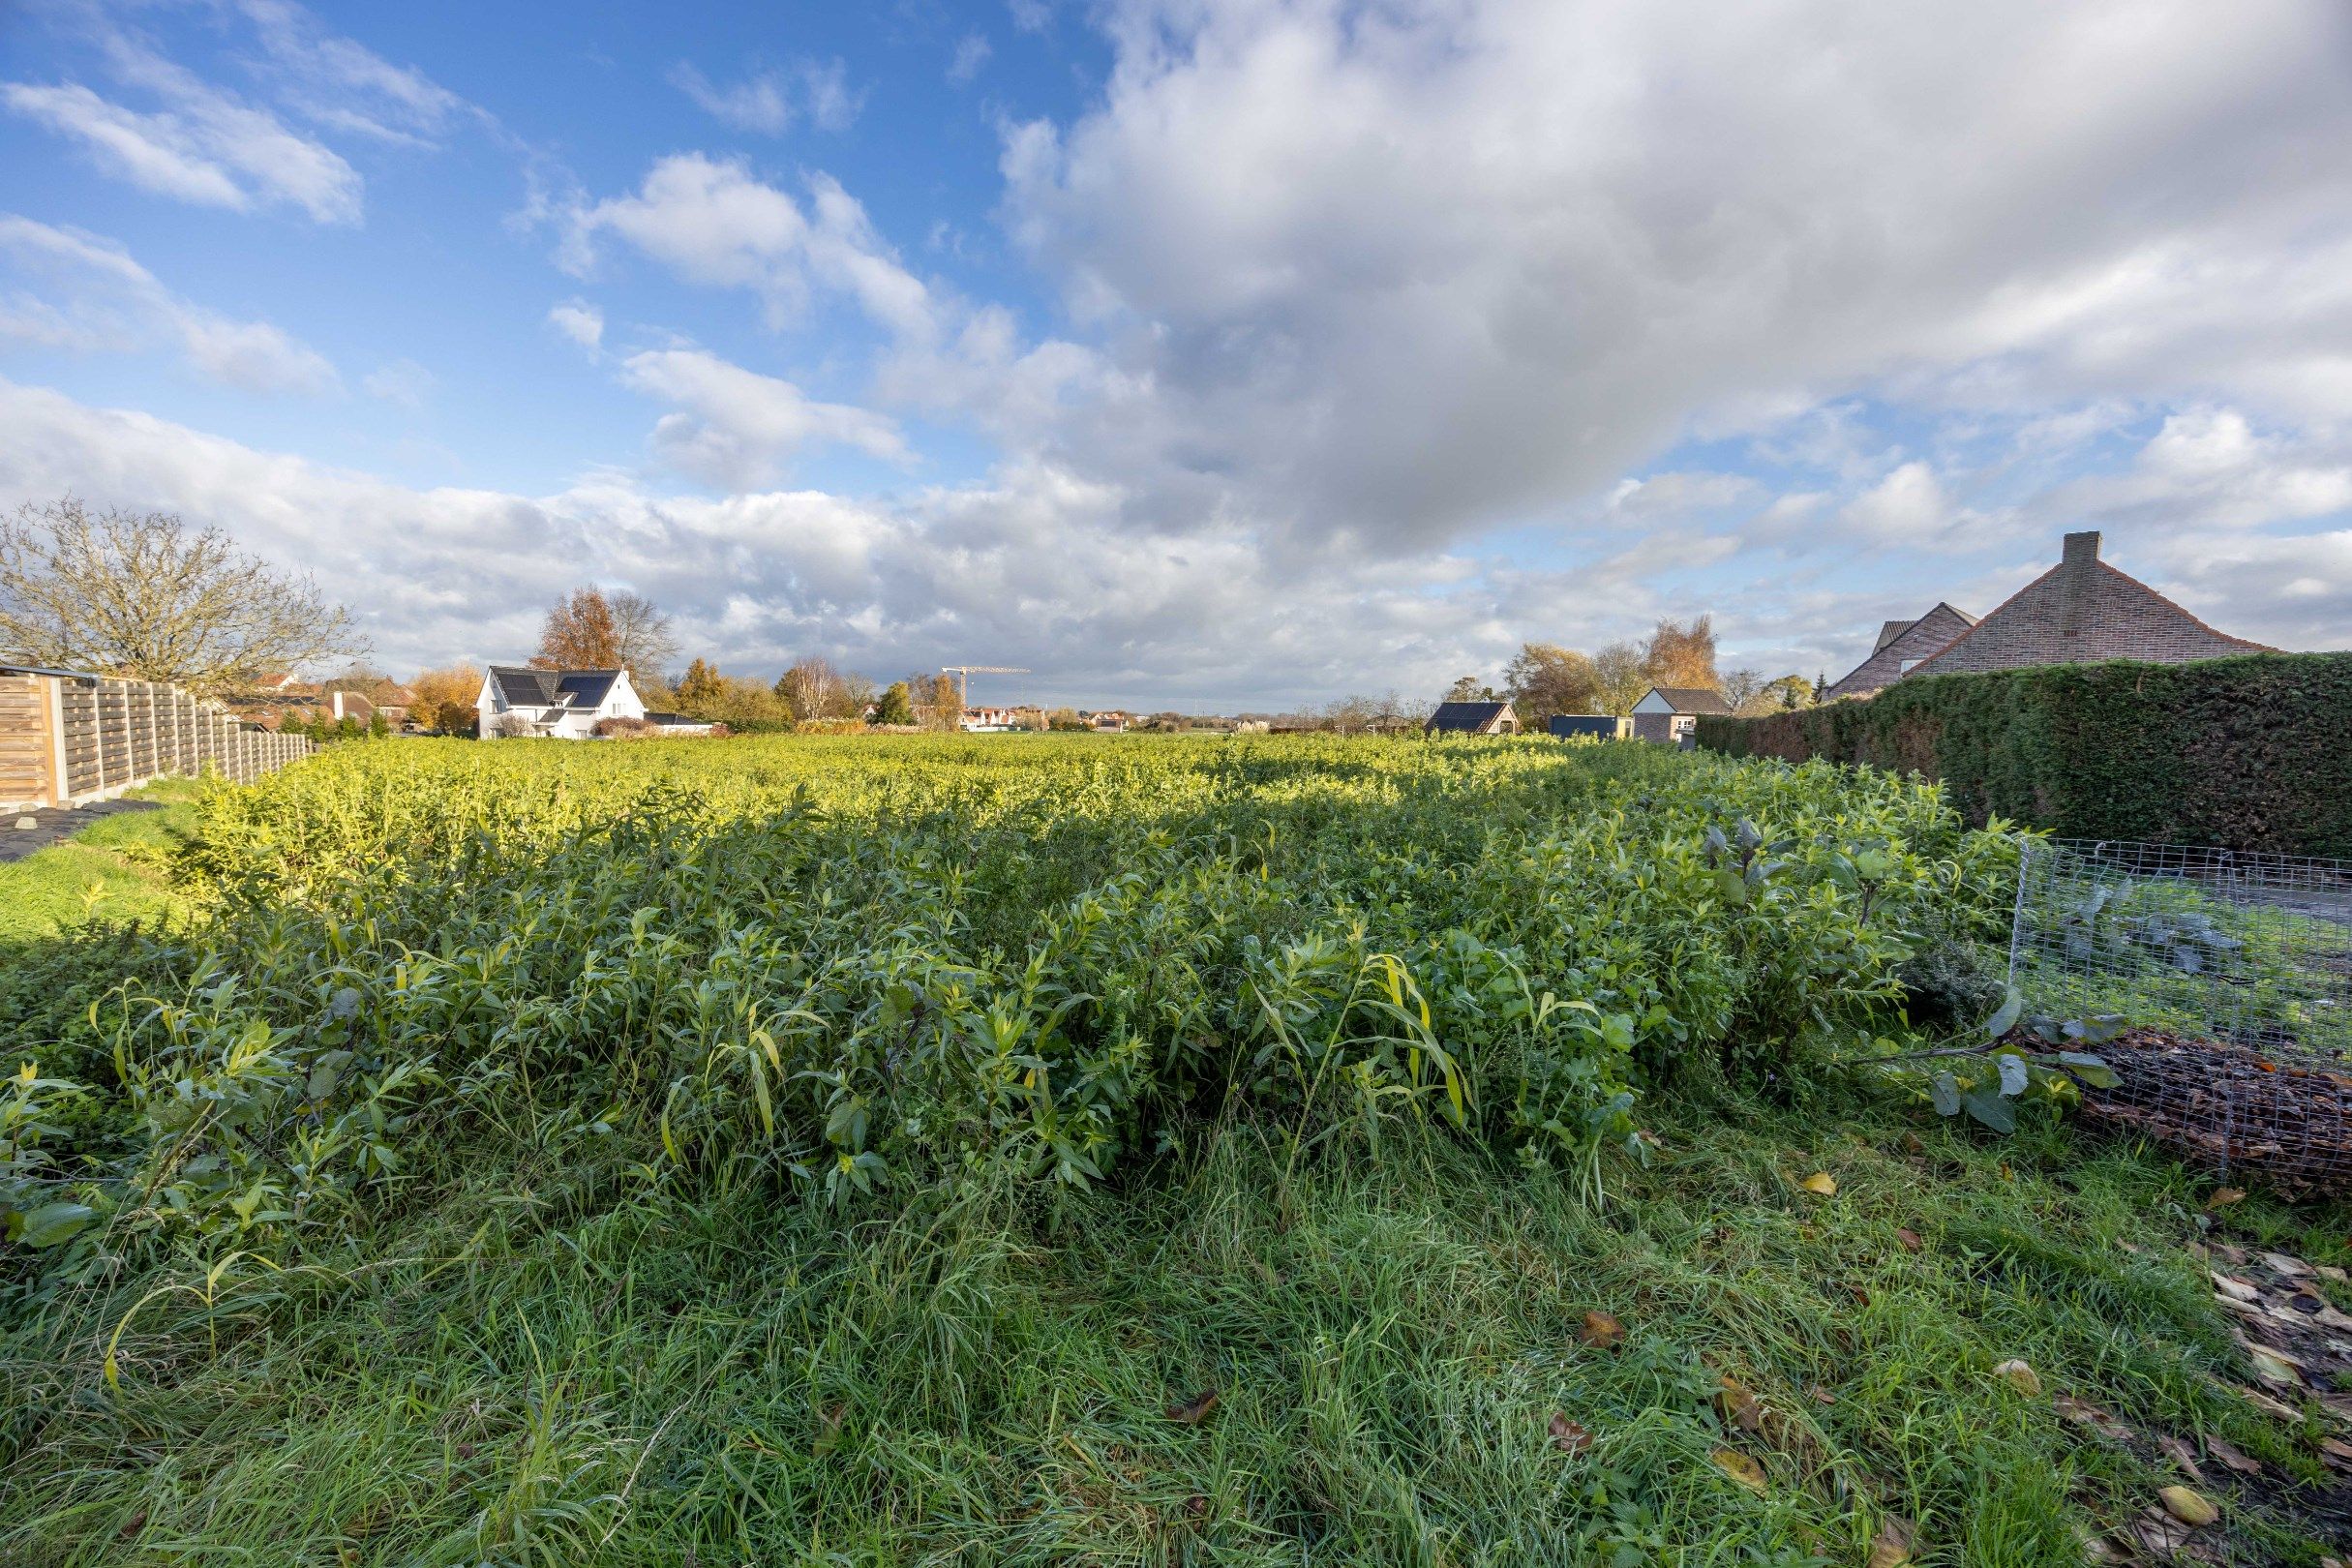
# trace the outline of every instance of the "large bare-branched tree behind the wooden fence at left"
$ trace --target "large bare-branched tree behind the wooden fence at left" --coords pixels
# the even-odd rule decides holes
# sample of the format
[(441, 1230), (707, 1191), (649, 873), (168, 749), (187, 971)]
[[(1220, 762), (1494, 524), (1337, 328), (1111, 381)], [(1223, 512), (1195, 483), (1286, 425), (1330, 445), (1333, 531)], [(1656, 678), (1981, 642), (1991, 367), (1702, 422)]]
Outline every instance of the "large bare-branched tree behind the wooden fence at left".
[(306, 576), (169, 512), (73, 496), (0, 522), (0, 656), (233, 691), (367, 646)]

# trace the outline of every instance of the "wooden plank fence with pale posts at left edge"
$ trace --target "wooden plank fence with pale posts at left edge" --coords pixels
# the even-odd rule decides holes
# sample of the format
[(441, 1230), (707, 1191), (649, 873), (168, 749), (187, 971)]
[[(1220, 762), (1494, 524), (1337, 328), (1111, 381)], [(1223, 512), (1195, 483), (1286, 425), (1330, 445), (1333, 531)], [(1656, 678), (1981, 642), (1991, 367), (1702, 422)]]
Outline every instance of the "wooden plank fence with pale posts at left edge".
[(80, 806), (165, 773), (247, 783), (313, 750), (155, 682), (0, 670), (0, 811)]

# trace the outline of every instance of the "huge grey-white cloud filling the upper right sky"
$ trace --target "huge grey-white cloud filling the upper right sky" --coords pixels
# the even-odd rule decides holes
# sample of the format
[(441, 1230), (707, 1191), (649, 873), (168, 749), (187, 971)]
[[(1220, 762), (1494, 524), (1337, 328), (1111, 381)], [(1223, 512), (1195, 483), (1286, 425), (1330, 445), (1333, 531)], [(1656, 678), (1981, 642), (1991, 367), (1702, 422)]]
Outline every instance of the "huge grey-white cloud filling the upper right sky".
[(1411, 550), (1853, 390), (2343, 407), (2340, 7), (1103, 26), (1098, 106), (1007, 132), (1007, 221), (1150, 388), (1042, 440), (1176, 510)]

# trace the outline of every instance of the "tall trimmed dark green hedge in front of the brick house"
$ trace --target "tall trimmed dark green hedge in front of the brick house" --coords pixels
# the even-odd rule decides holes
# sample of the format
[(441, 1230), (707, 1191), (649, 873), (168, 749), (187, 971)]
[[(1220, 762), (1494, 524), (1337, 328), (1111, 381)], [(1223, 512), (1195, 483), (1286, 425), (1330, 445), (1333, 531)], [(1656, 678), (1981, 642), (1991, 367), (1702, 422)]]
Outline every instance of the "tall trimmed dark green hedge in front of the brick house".
[(1940, 778), (1987, 816), (2089, 839), (2352, 860), (2352, 654), (1924, 675), (1860, 703), (1698, 719), (1736, 757)]

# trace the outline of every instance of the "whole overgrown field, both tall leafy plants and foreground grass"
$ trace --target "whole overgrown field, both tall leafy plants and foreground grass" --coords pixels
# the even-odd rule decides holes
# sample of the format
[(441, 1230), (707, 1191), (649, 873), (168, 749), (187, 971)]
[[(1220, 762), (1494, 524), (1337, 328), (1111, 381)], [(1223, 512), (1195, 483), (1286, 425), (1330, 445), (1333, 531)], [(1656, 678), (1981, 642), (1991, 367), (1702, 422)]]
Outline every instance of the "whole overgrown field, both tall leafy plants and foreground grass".
[(2074, 1563), (2150, 1453), (2018, 1356), (2317, 1476), (2187, 1178), (1828, 1067), (2011, 872), (1628, 745), (334, 748), (7, 954), (0, 1561)]

